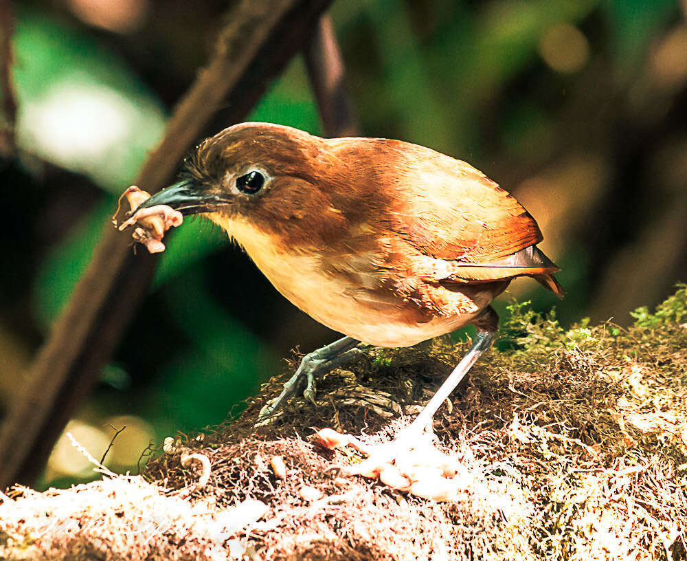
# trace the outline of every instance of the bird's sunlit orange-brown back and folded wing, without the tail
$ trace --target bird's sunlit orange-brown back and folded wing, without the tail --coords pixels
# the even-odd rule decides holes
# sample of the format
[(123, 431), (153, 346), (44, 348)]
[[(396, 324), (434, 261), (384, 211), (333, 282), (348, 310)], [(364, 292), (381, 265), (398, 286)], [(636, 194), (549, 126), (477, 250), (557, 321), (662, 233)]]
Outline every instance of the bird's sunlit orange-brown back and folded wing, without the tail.
[(398, 140), (357, 151), (361, 191), (383, 185), (390, 229), (425, 255), (488, 263), (543, 239), (521, 203), (467, 162)]

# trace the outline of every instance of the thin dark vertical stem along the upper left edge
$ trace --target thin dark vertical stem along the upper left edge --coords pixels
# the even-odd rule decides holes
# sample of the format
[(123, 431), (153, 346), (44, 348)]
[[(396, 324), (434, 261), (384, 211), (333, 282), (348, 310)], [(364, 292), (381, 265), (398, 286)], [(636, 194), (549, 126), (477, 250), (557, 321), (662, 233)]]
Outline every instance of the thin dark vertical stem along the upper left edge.
[(16, 97), (12, 83), (12, 65), (14, 64), (14, 50), (12, 36), (14, 35), (14, 16), (12, 2), (0, 0), (0, 91), (2, 95), (2, 111), (5, 123), (2, 130), (0, 152), (11, 155), (16, 149), (14, 142), (14, 123), (16, 122)]

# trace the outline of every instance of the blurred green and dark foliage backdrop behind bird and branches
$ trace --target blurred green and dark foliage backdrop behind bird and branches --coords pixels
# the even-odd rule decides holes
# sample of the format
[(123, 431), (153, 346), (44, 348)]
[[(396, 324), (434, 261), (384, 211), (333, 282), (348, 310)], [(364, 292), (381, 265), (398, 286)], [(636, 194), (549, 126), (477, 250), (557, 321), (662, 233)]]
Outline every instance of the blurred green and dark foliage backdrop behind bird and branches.
[[(227, 3), (8, 6), (16, 147), (5, 121), (0, 416), (118, 195), (207, 62)], [(521, 280), (497, 308), (531, 298), (570, 325), (628, 323), (631, 309), (687, 280), (686, 10), (675, 0), (338, 0), (330, 14), (363, 135), (465, 159), (513, 192), (539, 222), (567, 297)], [(321, 132), (302, 56), (251, 120)], [(210, 132), (229, 124), (218, 115)], [(188, 220), (68, 430), (99, 458), (126, 426), (107, 465), (135, 472), (148, 443), (220, 423), (282, 372), (291, 349), (336, 337), (213, 225)], [(62, 438), (39, 487), (91, 467)]]

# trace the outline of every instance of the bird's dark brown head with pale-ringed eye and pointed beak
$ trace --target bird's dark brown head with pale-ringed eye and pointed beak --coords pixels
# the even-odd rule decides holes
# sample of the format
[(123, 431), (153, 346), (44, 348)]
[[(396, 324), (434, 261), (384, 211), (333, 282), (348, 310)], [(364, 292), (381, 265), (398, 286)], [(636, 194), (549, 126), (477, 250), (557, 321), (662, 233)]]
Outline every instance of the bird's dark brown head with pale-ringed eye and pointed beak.
[(345, 164), (326, 140), (268, 123), (234, 125), (203, 141), (184, 162), (179, 181), (139, 208), (167, 205), (205, 214), (241, 245), (325, 241), (341, 228)]

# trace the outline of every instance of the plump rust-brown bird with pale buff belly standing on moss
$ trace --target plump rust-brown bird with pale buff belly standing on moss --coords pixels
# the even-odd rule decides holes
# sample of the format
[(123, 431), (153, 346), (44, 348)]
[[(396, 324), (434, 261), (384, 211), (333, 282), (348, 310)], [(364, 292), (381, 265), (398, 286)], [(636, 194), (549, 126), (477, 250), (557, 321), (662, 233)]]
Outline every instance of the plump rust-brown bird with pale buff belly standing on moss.
[(470, 164), (410, 142), (235, 124), (201, 142), (177, 183), (137, 210), (157, 205), (209, 218), (291, 303), (345, 336), (306, 355), (258, 423), (304, 387), (314, 402), (316, 377), (361, 343), (409, 347), (474, 325), (468, 353), (406, 434), (416, 435), (491, 347), (491, 302), (514, 278), (563, 296), (517, 199)]

